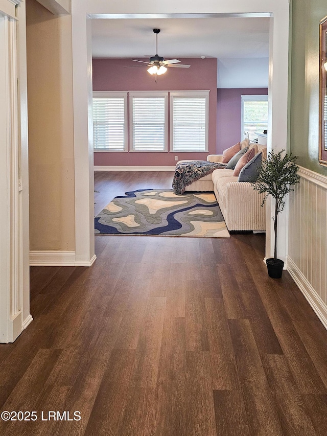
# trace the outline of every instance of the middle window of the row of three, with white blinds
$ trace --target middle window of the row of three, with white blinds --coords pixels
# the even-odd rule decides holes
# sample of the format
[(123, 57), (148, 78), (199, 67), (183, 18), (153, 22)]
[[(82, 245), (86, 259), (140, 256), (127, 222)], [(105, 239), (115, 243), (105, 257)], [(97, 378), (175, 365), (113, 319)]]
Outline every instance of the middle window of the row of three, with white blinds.
[(129, 93), (130, 151), (167, 151), (168, 91)]

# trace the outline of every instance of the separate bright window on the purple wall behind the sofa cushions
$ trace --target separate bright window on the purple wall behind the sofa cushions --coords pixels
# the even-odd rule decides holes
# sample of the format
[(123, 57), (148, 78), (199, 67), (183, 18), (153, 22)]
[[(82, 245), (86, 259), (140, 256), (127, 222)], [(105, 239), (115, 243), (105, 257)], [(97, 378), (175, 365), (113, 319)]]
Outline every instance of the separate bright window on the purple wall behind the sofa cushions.
[(268, 129), (268, 96), (241, 96), (241, 99), (241, 140), (247, 132), (253, 141), (258, 137), (255, 132), (263, 133)]

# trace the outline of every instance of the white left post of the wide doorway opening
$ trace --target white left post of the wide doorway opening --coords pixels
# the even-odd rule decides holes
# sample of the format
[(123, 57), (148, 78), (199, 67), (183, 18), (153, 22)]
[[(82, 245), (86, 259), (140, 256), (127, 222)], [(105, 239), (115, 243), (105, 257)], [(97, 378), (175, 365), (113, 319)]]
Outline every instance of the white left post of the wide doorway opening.
[(92, 120), (91, 20), (84, 1), (72, 2), (73, 105), (75, 156), (75, 265), (96, 260)]

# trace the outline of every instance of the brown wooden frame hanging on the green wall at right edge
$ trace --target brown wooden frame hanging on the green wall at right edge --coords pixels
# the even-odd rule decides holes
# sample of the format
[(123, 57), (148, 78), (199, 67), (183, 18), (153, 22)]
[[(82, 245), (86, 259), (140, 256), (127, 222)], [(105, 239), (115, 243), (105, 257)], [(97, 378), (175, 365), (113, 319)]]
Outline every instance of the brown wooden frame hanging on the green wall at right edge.
[(320, 21), (319, 163), (327, 166), (327, 16)]

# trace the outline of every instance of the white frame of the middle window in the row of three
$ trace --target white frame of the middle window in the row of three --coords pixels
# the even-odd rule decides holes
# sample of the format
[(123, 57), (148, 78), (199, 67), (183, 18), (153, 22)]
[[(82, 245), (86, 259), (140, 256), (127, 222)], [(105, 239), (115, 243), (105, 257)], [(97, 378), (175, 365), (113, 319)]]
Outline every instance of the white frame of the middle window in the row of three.
[[(168, 93), (169, 91), (128, 91), (129, 101), (129, 152), (130, 153), (167, 153), (168, 152)], [(165, 149), (164, 150), (134, 150), (133, 149), (133, 97), (165, 99)]]

